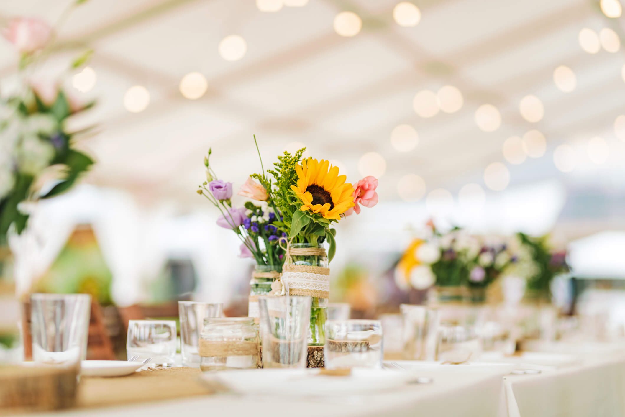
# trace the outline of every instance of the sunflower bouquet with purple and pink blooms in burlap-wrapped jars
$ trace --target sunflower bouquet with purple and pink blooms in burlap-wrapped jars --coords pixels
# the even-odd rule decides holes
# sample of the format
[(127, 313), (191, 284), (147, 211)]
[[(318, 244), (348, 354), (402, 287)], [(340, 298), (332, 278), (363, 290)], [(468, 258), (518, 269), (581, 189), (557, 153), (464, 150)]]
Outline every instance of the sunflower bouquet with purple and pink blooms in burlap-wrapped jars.
[(231, 183), (218, 182), (208, 157), (204, 159), (207, 181), (197, 192), (222, 212), (217, 224), (239, 236), (241, 255), (254, 258), (257, 271), (271, 269), (267, 272), (271, 276), (262, 279), (272, 282), (261, 291), (255, 289), (257, 281), (252, 278), (248, 314), (257, 315), (253, 298), (260, 294), (311, 296), (309, 344), (322, 346), (330, 288), (328, 266), (336, 252), (336, 230), (331, 226), (352, 211), (360, 213), (361, 205), (374, 206), (377, 180), (369, 176), (352, 186), (328, 161), (302, 159), (305, 150), (292, 155), (285, 151), (274, 169), (267, 171), (261, 160), (262, 174), (252, 174), (239, 191), (256, 202), (248, 201), (244, 208), (232, 207)]

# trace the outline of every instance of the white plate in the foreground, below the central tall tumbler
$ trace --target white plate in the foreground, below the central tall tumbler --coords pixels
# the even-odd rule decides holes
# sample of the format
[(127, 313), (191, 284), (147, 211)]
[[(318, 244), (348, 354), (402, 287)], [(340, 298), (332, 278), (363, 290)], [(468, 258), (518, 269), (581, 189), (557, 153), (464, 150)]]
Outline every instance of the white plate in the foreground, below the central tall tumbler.
[(318, 369), (242, 369), (204, 373), (202, 378), (241, 394), (335, 396), (400, 388), (414, 376), (403, 371), (365, 368), (353, 368), (349, 376), (319, 375)]

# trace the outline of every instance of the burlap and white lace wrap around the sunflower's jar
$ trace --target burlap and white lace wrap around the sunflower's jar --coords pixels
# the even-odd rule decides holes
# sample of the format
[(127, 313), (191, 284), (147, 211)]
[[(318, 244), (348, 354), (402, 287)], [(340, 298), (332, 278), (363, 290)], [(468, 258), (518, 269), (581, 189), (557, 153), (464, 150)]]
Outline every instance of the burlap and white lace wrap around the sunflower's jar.
[(291, 248), (289, 242), (282, 266), (282, 276), (271, 284), (271, 294), (329, 298), (330, 269), (321, 266), (296, 265), (292, 261), (292, 256), (326, 256), (326, 249)]

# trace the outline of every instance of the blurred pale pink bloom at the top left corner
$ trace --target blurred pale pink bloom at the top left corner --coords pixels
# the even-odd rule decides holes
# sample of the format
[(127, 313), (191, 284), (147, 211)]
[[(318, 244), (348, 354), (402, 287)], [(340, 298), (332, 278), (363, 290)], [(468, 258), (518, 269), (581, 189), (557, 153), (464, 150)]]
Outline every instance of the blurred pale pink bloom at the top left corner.
[(46, 22), (33, 18), (15, 18), (2, 31), (4, 38), (22, 54), (31, 54), (46, 46), (52, 29)]

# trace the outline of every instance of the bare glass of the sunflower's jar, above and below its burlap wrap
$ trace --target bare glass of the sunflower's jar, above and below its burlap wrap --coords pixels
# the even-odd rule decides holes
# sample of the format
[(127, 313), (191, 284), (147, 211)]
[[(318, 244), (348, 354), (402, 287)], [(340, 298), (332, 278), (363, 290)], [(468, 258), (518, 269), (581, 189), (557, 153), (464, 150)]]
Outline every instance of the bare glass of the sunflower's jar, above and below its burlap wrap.
[[(291, 244), (293, 249), (319, 248), (317, 244), (310, 243), (294, 243)], [(319, 266), (327, 268), (327, 256), (323, 255), (297, 255), (291, 254), (293, 264), (305, 266)], [(327, 317), (327, 298), (312, 297), (311, 299), (311, 324), (310, 334), (308, 336), (309, 346), (323, 346), (326, 343), (326, 317)]]

